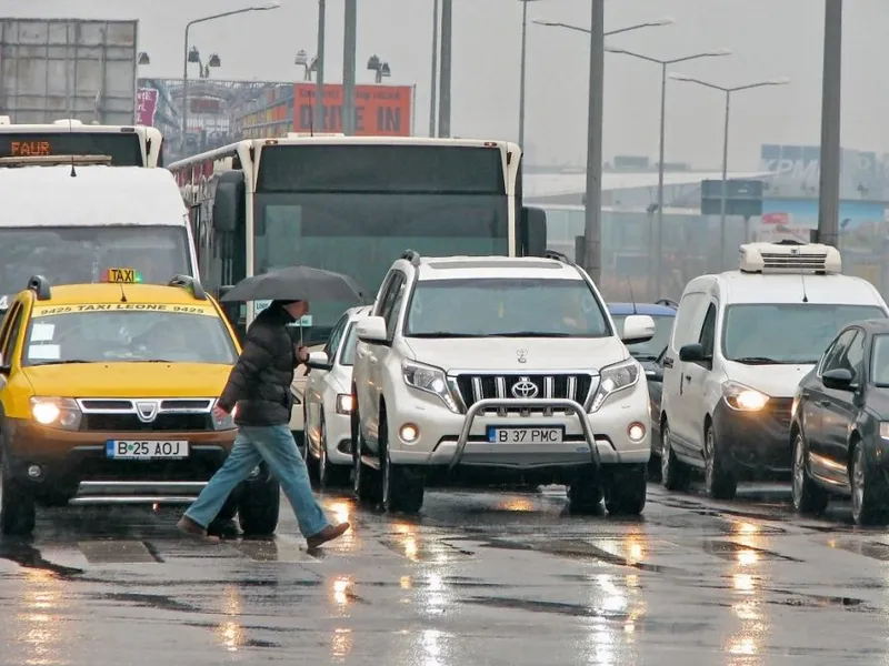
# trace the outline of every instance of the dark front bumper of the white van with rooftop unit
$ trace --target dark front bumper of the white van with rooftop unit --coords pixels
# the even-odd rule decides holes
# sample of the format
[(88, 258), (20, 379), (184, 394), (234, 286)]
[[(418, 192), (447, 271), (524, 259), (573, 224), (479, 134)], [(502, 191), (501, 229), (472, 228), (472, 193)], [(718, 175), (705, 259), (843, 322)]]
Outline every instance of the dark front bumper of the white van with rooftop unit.
[(719, 401), (713, 410), (718, 445), (726, 447), (741, 478), (790, 477), (790, 410), (783, 408), (783, 402), (776, 401), (759, 412), (739, 412)]

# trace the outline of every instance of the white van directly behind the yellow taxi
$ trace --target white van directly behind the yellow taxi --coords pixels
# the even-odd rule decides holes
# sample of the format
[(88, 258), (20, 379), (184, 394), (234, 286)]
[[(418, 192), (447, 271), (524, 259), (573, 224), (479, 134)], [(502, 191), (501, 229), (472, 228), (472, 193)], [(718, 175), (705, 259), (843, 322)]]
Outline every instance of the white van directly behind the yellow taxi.
[(108, 268), (147, 283), (198, 278), (188, 210), (166, 169), (0, 169), (0, 316), (31, 275), (98, 282)]

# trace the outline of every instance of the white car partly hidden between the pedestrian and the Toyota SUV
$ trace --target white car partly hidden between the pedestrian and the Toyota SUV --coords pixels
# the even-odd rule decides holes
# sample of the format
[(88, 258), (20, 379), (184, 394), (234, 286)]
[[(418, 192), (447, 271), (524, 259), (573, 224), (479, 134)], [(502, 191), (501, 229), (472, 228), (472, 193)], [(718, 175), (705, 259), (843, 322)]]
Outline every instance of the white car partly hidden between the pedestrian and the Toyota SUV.
[(354, 326), (369, 313), (369, 305), (347, 310), (331, 330), (323, 351), (309, 356), (303, 453), (321, 487), (344, 485), (352, 472)]

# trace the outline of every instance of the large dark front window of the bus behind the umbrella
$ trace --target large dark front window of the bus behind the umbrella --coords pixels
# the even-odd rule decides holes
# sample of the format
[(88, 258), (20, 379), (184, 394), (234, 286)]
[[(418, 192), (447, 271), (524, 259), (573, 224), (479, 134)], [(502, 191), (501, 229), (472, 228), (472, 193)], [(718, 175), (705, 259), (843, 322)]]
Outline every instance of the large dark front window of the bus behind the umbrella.
[[(370, 293), (404, 250), (506, 255), (499, 150), (475, 147), (266, 147), (256, 196), (254, 272), (311, 265)], [(303, 341), (327, 339), (357, 303), (316, 302)]]

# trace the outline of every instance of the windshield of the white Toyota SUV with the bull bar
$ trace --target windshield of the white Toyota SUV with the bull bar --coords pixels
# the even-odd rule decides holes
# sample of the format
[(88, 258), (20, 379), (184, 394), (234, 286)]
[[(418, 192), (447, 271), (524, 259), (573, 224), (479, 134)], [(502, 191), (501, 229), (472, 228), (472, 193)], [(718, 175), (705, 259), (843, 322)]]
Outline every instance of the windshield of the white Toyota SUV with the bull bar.
[(404, 335), (414, 337), (601, 337), (610, 334), (601, 306), (582, 280), (422, 281), (413, 290), (404, 323)]

